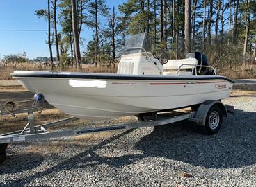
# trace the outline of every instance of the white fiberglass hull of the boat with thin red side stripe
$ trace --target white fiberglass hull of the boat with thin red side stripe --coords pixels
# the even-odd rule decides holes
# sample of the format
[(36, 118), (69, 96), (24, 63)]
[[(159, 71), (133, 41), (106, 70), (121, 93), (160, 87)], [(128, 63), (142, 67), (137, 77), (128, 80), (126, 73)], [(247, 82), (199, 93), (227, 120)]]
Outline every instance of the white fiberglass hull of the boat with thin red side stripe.
[[(131, 116), (165, 109), (175, 109), (203, 103), (205, 100), (221, 100), (230, 95), (232, 82), (219, 76), (192, 76), (182, 80), (170, 77), (158, 80), (163, 75), (144, 76), (128, 79), (119, 75), (118, 80), (99, 73), (82, 73), (99, 75), (95, 78), (49, 78), (33, 77), (33, 73), (17, 71), (15, 78), (29, 91), (43, 94), (45, 99), (66, 114), (77, 118), (106, 119)], [(42, 73), (41, 73), (42, 74)], [(27, 75), (27, 76), (22, 76)], [(56, 73), (58, 75), (58, 73)], [(107, 77), (107, 78), (106, 78)], [(195, 76), (193, 76), (195, 77)], [(211, 77), (211, 78), (209, 78)], [(123, 79), (122, 79), (123, 78)], [(141, 79), (141, 80), (140, 80)]]

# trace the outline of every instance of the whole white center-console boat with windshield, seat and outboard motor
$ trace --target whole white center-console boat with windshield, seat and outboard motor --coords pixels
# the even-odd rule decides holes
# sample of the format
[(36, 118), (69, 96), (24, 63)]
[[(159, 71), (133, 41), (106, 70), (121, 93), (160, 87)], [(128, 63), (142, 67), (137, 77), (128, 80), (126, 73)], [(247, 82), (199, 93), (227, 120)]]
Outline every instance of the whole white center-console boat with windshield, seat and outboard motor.
[(65, 114), (100, 120), (190, 107), (230, 95), (233, 81), (216, 75), (205, 55), (168, 60), (148, 33), (125, 40), (117, 73), (14, 71), (26, 89)]

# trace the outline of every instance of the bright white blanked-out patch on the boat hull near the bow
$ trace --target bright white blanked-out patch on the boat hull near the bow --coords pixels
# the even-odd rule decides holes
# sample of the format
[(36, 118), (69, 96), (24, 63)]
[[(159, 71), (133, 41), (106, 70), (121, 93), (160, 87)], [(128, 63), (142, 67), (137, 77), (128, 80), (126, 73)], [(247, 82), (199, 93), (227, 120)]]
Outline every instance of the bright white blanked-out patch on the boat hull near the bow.
[(79, 87), (97, 87), (97, 88), (106, 88), (106, 81), (104, 80), (72, 80), (68, 81), (73, 88)]

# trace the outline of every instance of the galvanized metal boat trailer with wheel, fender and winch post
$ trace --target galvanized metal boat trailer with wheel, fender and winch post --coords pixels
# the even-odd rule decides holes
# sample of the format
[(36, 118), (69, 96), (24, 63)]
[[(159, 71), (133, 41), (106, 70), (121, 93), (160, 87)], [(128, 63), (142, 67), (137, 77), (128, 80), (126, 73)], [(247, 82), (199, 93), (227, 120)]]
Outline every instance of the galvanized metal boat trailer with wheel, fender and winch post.
[[(42, 94), (35, 94), (33, 105), (27, 109), (15, 109), (13, 101), (6, 102), (0, 106), (0, 115), (10, 115), (17, 118), (16, 114), (28, 114), (28, 123), (23, 130), (0, 134), (0, 164), (6, 159), (6, 148), (8, 143), (16, 143), (22, 141), (33, 141), (39, 139), (51, 139), (65, 136), (79, 136), (81, 134), (89, 134), (95, 132), (107, 132), (113, 130), (131, 130), (139, 127), (154, 127), (159, 125), (170, 125), (178, 121), (189, 120), (199, 125), (204, 126), (207, 134), (216, 134), (221, 128), (222, 117), (227, 116), (227, 112), (234, 112), (234, 107), (223, 105), (219, 100), (207, 100), (200, 105), (191, 107), (189, 112), (177, 112), (170, 110), (166, 112), (154, 112), (147, 114), (139, 114), (138, 122), (119, 125), (109, 125), (104, 127), (86, 127), (82, 129), (47, 131), (50, 127), (56, 127), (72, 121), (77, 121), (78, 118), (69, 117), (59, 121), (45, 123), (42, 125), (34, 125), (34, 112), (40, 111), (40, 107), (45, 101)], [(21, 101), (23, 102), (23, 101)]]

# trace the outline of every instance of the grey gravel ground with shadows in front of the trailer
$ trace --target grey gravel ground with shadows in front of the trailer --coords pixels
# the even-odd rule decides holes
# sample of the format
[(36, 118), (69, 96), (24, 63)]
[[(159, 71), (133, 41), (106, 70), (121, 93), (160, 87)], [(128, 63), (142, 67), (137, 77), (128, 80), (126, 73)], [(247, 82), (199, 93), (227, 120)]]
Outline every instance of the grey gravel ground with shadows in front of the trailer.
[(16, 143), (0, 186), (256, 186), (256, 100), (235, 107), (218, 134), (192, 123)]

